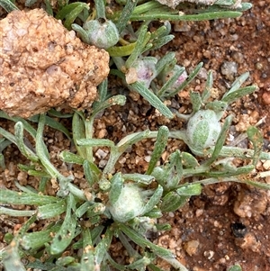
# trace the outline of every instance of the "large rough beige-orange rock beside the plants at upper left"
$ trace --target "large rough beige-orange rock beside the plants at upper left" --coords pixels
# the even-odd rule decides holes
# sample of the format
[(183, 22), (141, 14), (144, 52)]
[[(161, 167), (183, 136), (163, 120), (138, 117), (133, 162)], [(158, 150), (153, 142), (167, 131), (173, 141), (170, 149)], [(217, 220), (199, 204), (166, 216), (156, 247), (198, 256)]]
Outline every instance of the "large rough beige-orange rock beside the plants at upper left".
[(41, 9), (0, 21), (0, 109), (28, 118), (56, 106), (91, 106), (109, 73), (109, 55)]

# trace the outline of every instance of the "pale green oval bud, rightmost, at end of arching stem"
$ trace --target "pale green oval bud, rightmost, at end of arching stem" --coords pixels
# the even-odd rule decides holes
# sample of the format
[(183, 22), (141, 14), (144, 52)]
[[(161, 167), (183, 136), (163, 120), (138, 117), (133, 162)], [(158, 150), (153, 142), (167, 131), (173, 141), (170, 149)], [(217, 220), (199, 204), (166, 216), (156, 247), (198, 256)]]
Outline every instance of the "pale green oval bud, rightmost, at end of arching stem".
[(199, 110), (187, 123), (187, 145), (194, 154), (202, 155), (203, 149), (213, 147), (220, 135), (221, 125), (212, 110)]

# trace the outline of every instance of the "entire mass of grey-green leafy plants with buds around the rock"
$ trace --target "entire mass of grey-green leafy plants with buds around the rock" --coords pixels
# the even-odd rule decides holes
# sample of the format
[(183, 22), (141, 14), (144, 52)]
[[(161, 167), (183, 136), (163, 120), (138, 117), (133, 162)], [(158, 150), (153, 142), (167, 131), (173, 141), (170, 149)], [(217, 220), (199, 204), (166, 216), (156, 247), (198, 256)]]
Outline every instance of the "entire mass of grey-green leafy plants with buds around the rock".
[[(26, 2), (27, 5), (33, 5), (35, 1)], [(49, 1), (45, 3), (47, 11), (53, 15)], [(76, 30), (82, 40), (89, 43), (92, 43), (89, 35), (93, 27), (91, 22), (107, 23), (104, 28), (110, 28), (113, 42), (110, 46), (105, 44), (103, 48), (108, 50), (112, 64), (117, 67), (111, 69), (111, 74), (121, 78), (125, 86), (142, 95), (167, 118), (173, 118), (174, 113), (163, 101), (184, 89), (199, 73), (202, 64), (194, 68), (187, 77), (184, 76), (184, 68), (175, 64), (173, 52), (158, 61), (145, 57), (148, 50), (156, 50), (174, 38), (170, 34), (169, 22), (164, 23), (155, 32), (148, 32), (149, 23), (153, 20), (209, 20), (236, 17), (250, 8), (250, 5), (245, 3), (238, 9), (229, 10), (229, 3), (230, 5), (234, 3), (228, 0), (218, 1), (217, 5), (192, 9), (193, 14), (189, 14), (186, 5), (181, 4), (181, 8), (186, 9), (185, 14), (179, 14), (179, 11), (171, 10), (156, 1), (128, 0), (117, 1), (119, 10), (106, 14), (103, 1), (96, 0), (94, 3), (94, 9), (90, 9), (85, 3), (68, 4), (58, 1), (56, 18), (62, 20), (67, 29)], [(9, 0), (0, 0), (0, 5), (8, 12), (16, 9), (14, 3)], [(134, 21), (142, 21), (136, 31), (132, 28)], [(130, 37), (130, 40), (125, 40), (125, 37)], [(108, 41), (103, 41), (102, 44), (104, 42)], [(140, 75), (139, 70), (149, 72)], [(107, 80), (99, 86), (99, 99), (94, 102), (90, 115), (82, 112), (61, 115), (51, 110), (47, 115), (41, 114), (26, 121), (0, 112), (1, 118), (15, 122), (14, 134), (0, 127), (0, 134), (3, 136), (0, 139), (0, 167), (5, 166), (3, 150), (14, 143), (30, 161), (28, 165), (18, 167), (28, 175), (40, 178), (38, 190), (15, 183), (20, 192), (8, 189), (0, 191), (1, 202), (7, 204), (0, 207), (1, 213), (30, 217), (14, 236), (5, 235), (5, 241), (9, 246), (2, 251), (1, 258), (6, 270), (25, 270), (21, 258), (29, 256), (33, 260), (26, 267), (41, 270), (145, 270), (146, 266), (152, 270), (160, 270), (155, 265), (157, 257), (165, 259), (175, 269), (187, 270), (169, 250), (158, 247), (146, 237), (148, 231), (168, 230), (170, 226), (159, 224), (157, 219), (165, 212), (174, 212), (183, 206), (190, 196), (201, 194), (202, 185), (228, 181), (244, 182), (238, 176), (251, 172), (258, 159), (270, 159), (269, 154), (262, 152), (262, 137), (256, 127), (250, 127), (247, 131), (247, 138), (253, 143), (254, 149), (223, 146), (232, 116), (227, 117), (223, 125), (220, 125), (220, 119), (228, 104), (255, 90), (255, 86), (240, 87), (247, 77), (248, 74), (239, 77), (220, 101), (209, 102), (212, 87), (210, 73), (202, 95), (191, 93), (193, 113), (190, 115), (176, 113), (177, 117), (187, 121), (186, 131), (168, 131), (166, 126), (162, 126), (158, 131), (130, 134), (117, 144), (112, 140), (93, 138), (96, 116), (113, 104), (123, 105), (126, 101), (124, 95), (110, 96)], [(155, 78), (158, 80), (154, 80)], [(162, 86), (157, 85), (160, 81)], [(201, 121), (198, 121), (198, 115)], [(72, 118), (72, 136), (66, 127), (55, 120), (55, 117)], [(212, 132), (211, 122), (220, 127), (220, 131)], [(38, 123), (37, 130), (32, 123)], [(49, 151), (42, 138), (45, 125), (62, 131), (75, 144), (76, 153), (65, 150), (59, 158), (68, 165), (78, 164), (83, 167), (91, 196), (86, 196), (84, 191), (73, 184), (73, 175), (63, 176), (50, 162)], [(35, 142), (33, 148), (25, 144), (24, 131), (27, 131)], [(148, 138), (157, 140), (146, 173), (115, 173), (115, 164), (121, 155), (132, 144)], [(200, 163), (192, 154), (176, 150), (165, 165), (157, 167), (157, 161), (166, 148), (168, 138), (184, 140), (193, 154), (202, 157)], [(110, 149), (110, 157), (103, 170), (94, 164), (94, 147)], [(247, 166), (235, 167), (232, 163), (233, 158), (251, 162), (244, 163)], [(189, 183), (187, 180), (193, 176), (196, 177), (196, 181)], [(45, 186), (51, 179), (58, 181), (56, 196), (44, 194)], [(248, 178), (245, 183), (270, 188), (269, 185)], [(129, 208), (126, 204), (127, 195)], [(9, 208), (8, 204), (26, 204), (35, 207), (34, 210), (22, 211)], [(42, 230), (29, 232), (31, 224), (40, 220), (50, 222)], [(113, 237), (119, 239), (126, 249), (130, 258), (129, 265), (117, 263), (110, 255), (109, 248)], [(134, 244), (140, 249), (134, 248)], [(76, 251), (81, 249), (82, 255), (65, 256), (68, 249)], [(43, 260), (40, 261), (40, 258)], [(233, 268), (238, 270), (238, 266)]]

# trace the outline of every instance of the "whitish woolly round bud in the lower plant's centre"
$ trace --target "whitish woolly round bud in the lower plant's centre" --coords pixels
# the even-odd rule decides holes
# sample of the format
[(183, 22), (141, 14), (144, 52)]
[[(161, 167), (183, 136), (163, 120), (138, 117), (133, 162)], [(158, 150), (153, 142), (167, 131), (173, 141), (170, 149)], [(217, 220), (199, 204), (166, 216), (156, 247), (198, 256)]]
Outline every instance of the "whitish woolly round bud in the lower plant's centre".
[(124, 185), (116, 203), (109, 206), (115, 221), (126, 222), (138, 216), (144, 207), (141, 191), (136, 185)]

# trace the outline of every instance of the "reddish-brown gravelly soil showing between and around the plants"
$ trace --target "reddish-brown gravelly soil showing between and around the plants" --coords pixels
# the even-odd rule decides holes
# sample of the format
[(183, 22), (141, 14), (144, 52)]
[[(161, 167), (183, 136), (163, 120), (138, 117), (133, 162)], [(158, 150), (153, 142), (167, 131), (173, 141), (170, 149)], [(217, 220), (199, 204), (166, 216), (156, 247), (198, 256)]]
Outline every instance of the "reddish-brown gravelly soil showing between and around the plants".
[[(181, 112), (189, 110), (188, 91), (202, 89), (208, 70), (214, 71), (214, 87), (217, 89), (215, 97), (222, 95), (236, 77), (249, 71), (247, 83), (257, 85), (258, 90), (229, 107), (229, 113), (235, 113), (231, 132), (233, 136), (237, 136), (246, 131), (248, 125), (266, 117), (259, 127), (264, 134), (264, 148), (269, 150), (270, 2), (253, 1), (253, 5), (251, 10), (238, 19), (184, 23), (183, 29), (188, 31), (174, 32), (175, 40), (153, 54), (175, 51), (178, 64), (185, 66), (187, 71), (200, 61), (204, 62), (205, 70), (202, 70), (200, 77), (171, 102), (171, 106)], [(181, 28), (181, 25), (178, 25), (179, 27)], [(226, 61), (235, 62), (236, 73), (222, 74)], [(117, 82), (112, 81), (111, 85), (112, 92), (121, 91), (128, 95)], [(181, 121), (167, 121), (138, 95), (131, 94), (128, 95), (125, 106), (114, 106), (95, 121), (95, 136), (117, 141), (132, 131), (157, 130), (162, 124), (171, 130), (182, 128)], [(11, 124), (4, 120), (0, 120), (0, 125), (12, 129)], [(69, 146), (68, 140), (58, 132), (46, 131), (45, 137), (50, 155), (54, 158), (59, 150)], [(184, 144), (178, 140), (169, 140), (163, 158), (166, 159), (175, 149), (182, 149), (182, 146)], [(151, 140), (137, 144), (117, 167), (126, 172), (144, 172), (147, 168), (144, 158), (152, 147)], [(23, 163), (23, 158), (14, 146), (5, 150), (5, 156), (7, 169), (0, 169), (1, 185), (10, 188), (14, 179), (19, 179), (21, 185), (37, 185), (31, 176), (19, 173), (16, 165)], [(270, 166), (263, 162), (257, 165), (258, 170), (269, 170), (268, 167)], [(77, 176), (80, 176), (79, 172)], [(270, 179), (262, 181), (270, 182)], [(168, 213), (161, 219), (169, 222), (172, 230), (156, 236), (154, 242), (172, 249), (177, 258), (193, 271), (223, 271), (237, 263), (247, 271), (270, 270), (269, 199), (269, 192), (247, 185), (208, 185), (203, 188), (200, 196), (192, 197), (184, 208)], [(12, 231), (15, 225), (22, 221), (7, 217), (1, 219), (2, 248), (5, 245), (4, 233)], [(160, 262), (160, 265), (164, 263)]]

